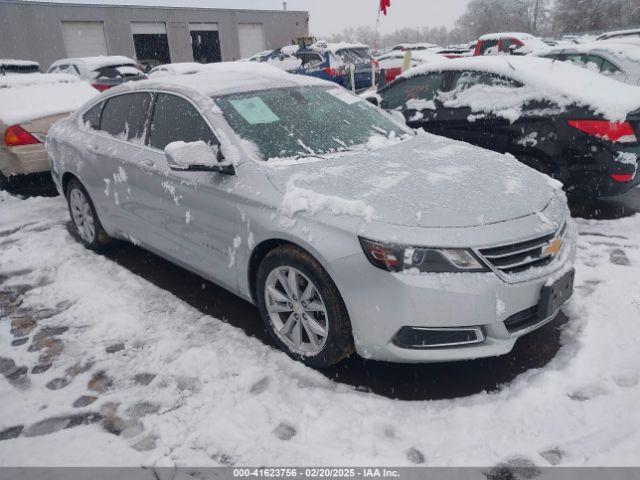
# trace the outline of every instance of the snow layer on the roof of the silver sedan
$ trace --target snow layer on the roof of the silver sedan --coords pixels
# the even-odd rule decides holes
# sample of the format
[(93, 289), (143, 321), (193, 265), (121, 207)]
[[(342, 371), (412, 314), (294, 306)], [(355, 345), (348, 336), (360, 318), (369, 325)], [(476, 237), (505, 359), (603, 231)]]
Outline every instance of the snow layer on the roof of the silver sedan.
[(333, 85), (314, 77), (292, 75), (266, 63), (221, 62), (202, 65), (193, 75), (166, 75), (139, 82), (128, 82), (112, 89), (138, 90), (163, 85), (196, 91), (207, 97), (231, 93), (266, 90), (270, 88), (307, 85)]

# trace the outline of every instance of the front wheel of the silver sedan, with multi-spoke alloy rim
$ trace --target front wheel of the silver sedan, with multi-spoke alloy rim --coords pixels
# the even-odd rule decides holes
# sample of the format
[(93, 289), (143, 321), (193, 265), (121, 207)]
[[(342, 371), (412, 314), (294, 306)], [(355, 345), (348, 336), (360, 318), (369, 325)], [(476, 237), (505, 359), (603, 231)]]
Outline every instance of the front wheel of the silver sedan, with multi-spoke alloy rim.
[(260, 313), (276, 344), (317, 368), (339, 363), (355, 348), (338, 288), (309, 253), (283, 245), (267, 254), (257, 277)]

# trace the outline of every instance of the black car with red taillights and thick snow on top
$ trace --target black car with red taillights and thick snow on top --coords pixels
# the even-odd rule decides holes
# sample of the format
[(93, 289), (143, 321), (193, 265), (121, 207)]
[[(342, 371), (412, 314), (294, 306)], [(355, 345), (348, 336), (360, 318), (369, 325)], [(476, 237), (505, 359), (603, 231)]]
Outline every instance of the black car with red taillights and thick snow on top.
[[(628, 105), (626, 118), (607, 118), (608, 100)], [(525, 57), (430, 64), (382, 88), (375, 102), (401, 111), (410, 127), (510, 153), (574, 195), (618, 195), (640, 182), (640, 90), (572, 65)]]

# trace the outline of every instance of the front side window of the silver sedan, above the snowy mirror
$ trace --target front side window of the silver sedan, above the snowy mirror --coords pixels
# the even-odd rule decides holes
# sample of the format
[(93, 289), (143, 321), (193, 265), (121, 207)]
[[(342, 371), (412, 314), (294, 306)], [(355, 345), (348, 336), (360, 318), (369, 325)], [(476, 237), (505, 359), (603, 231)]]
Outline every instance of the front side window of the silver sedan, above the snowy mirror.
[(159, 150), (171, 142), (219, 144), (209, 125), (191, 102), (176, 95), (158, 94), (151, 120), (149, 144)]

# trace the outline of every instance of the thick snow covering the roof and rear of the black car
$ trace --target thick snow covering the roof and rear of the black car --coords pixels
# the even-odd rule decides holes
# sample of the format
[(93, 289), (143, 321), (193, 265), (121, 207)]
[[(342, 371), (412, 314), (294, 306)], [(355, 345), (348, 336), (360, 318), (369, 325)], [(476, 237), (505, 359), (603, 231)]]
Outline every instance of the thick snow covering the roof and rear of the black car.
[[(547, 58), (486, 56), (443, 59), (412, 68), (402, 78), (429, 72), (460, 70), (489, 72), (522, 83), (524, 88), (521, 89), (511, 88), (504, 92), (506, 89), (503, 88), (506, 95), (501, 95), (500, 98), (492, 98), (489, 90), (484, 91), (480, 98), (473, 99), (474, 110), (509, 110), (512, 120), (518, 116), (514, 112), (519, 112), (527, 102), (536, 99), (552, 100), (562, 108), (570, 105), (586, 106), (612, 121), (624, 120), (629, 113), (640, 109), (640, 88), (619, 83), (567, 62), (554, 62)], [(496, 87), (493, 88), (497, 90)]]

